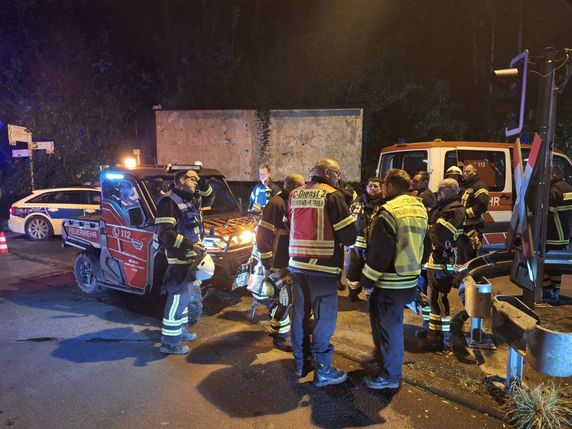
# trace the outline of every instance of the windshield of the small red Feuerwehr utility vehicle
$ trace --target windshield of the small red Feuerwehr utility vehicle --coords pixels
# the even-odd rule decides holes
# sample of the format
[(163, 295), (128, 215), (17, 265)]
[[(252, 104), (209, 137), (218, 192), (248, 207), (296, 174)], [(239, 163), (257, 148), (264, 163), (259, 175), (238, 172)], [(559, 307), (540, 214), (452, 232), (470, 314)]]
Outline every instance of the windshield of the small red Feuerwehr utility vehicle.
[[(206, 180), (215, 193), (212, 206), (203, 207), (205, 214), (222, 214), (239, 211), (238, 204), (222, 177), (201, 176), (201, 180)], [(172, 188), (173, 176), (146, 177), (142, 179), (141, 182), (149, 191), (151, 198), (155, 202), (155, 206), (157, 206), (161, 197), (165, 196)]]

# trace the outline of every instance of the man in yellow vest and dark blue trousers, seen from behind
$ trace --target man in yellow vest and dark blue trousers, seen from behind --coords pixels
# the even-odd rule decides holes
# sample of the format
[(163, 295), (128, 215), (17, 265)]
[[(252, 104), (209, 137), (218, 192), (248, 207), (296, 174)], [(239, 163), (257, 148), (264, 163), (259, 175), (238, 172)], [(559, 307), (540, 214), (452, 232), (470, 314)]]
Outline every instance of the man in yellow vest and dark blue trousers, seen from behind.
[(361, 284), (372, 289), (370, 321), (381, 372), (366, 377), (372, 389), (397, 389), (403, 364), (403, 307), (415, 297), (421, 272), (427, 209), (408, 195), (409, 175), (391, 169), (384, 179), (386, 203), (371, 221)]

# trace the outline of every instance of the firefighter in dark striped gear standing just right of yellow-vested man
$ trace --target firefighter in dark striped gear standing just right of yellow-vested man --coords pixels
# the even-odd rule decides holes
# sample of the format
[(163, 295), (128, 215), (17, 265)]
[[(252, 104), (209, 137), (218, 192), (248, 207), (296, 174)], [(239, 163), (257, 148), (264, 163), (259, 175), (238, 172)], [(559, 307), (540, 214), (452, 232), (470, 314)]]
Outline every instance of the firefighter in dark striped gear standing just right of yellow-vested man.
[[(429, 214), (431, 254), (427, 262), (428, 295), (431, 306), (429, 320), (423, 321), (418, 337), (433, 341), (434, 350), (451, 347), (451, 317), (448, 294), (459, 283), (455, 269), (457, 239), (463, 233), (465, 209), (459, 201), (459, 184), (454, 179), (439, 183), (437, 206)], [(428, 329), (428, 330), (427, 330)]]

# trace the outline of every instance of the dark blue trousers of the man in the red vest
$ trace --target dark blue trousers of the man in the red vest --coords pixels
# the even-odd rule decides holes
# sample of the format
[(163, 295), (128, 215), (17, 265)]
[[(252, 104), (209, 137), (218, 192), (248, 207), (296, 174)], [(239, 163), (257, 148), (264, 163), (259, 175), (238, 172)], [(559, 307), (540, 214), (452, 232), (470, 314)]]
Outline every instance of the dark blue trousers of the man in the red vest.
[(316, 364), (330, 366), (334, 354), (330, 339), (338, 318), (338, 277), (295, 271), (292, 282), (294, 359), (307, 359), (311, 354)]

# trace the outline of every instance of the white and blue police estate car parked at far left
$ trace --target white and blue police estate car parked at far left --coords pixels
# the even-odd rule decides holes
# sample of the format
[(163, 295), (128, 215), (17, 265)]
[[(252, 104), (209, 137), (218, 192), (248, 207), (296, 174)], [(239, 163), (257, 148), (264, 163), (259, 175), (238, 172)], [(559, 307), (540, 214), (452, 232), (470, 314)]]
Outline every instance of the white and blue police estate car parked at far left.
[(31, 240), (61, 235), (62, 219), (101, 213), (100, 190), (92, 187), (37, 189), (12, 204), (8, 228)]

